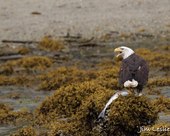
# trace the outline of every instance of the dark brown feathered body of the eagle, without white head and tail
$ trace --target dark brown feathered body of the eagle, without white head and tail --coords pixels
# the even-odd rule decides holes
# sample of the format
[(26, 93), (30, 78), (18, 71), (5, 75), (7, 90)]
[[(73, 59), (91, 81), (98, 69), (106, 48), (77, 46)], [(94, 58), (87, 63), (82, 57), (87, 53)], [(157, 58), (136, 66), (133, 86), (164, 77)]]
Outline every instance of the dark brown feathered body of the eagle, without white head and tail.
[(133, 53), (122, 61), (119, 83), (123, 85), (126, 81), (134, 79), (138, 82), (137, 91), (141, 92), (148, 81), (148, 74), (149, 67), (146, 61)]

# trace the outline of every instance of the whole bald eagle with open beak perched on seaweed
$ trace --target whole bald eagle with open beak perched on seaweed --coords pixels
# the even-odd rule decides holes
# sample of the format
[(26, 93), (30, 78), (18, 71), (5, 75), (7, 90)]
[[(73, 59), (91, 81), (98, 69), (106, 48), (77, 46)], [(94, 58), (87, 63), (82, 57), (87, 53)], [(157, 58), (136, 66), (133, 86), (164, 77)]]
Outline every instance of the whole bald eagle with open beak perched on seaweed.
[(119, 72), (119, 84), (126, 88), (134, 88), (138, 95), (141, 95), (143, 87), (148, 81), (147, 62), (125, 46), (116, 48), (114, 52), (116, 57), (123, 58)]

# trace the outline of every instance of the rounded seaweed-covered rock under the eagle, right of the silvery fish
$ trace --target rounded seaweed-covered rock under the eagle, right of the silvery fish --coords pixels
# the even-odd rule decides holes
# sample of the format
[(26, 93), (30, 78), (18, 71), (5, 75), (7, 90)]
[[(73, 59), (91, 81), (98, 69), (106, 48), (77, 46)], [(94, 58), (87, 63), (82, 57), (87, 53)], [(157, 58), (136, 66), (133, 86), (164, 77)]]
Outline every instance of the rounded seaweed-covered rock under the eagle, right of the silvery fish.
[(140, 126), (154, 124), (158, 112), (146, 97), (119, 97), (110, 107), (104, 133), (107, 135), (138, 135)]

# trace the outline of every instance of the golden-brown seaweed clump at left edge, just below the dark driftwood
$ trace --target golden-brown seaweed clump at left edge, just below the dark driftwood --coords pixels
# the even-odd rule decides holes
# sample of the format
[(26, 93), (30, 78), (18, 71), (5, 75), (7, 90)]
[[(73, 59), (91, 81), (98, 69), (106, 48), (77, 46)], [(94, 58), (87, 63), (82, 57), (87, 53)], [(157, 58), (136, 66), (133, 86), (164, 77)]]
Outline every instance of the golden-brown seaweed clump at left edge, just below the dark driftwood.
[(53, 64), (53, 60), (45, 56), (27, 56), (18, 60), (7, 61), (0, 67), (0, 73), (11, 75), (17, 73), (34, 73), (43, 71)]

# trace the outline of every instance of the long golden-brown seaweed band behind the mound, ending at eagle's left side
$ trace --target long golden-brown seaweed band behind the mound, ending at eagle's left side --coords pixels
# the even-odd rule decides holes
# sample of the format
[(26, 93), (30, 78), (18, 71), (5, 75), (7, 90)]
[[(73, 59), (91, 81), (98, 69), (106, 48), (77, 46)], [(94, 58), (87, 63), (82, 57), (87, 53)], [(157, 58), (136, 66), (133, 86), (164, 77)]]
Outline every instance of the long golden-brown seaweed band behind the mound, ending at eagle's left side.
[[(38, 90), (55, 90), (70, 83), (84, 82), (93, 80), (110, 89), (118, 87), (118, 68), (109, 67), (100, 70), (83, 70), (77, 67), (61, 67), (52, 72), (39, 77), (41, 83)], [(114, 88), (115, 87), (115, 88)]]

